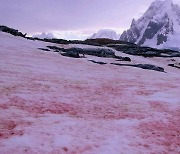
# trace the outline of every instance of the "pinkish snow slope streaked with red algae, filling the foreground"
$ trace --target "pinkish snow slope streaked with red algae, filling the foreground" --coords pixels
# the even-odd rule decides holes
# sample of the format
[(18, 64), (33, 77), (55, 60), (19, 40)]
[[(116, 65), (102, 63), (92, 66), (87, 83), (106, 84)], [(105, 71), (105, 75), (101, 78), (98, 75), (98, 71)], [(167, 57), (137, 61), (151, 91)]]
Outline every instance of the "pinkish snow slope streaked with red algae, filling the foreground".
[(0, 33), (0, 153), (180, 153), (170, 59), (130, 56), (161, 73), (37, 49), (46, 45)]

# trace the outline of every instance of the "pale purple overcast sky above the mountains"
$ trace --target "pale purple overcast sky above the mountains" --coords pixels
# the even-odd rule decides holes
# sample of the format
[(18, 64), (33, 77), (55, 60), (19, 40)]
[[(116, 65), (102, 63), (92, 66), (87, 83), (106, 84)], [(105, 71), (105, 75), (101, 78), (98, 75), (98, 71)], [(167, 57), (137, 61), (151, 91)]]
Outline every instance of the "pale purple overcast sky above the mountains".
[[(0, 25), (29, 35), (85, 39), (99, 29), (122, 33), (154, 0), (0, 0)], [(180, 5), (180, 0), (173, 0)]]

